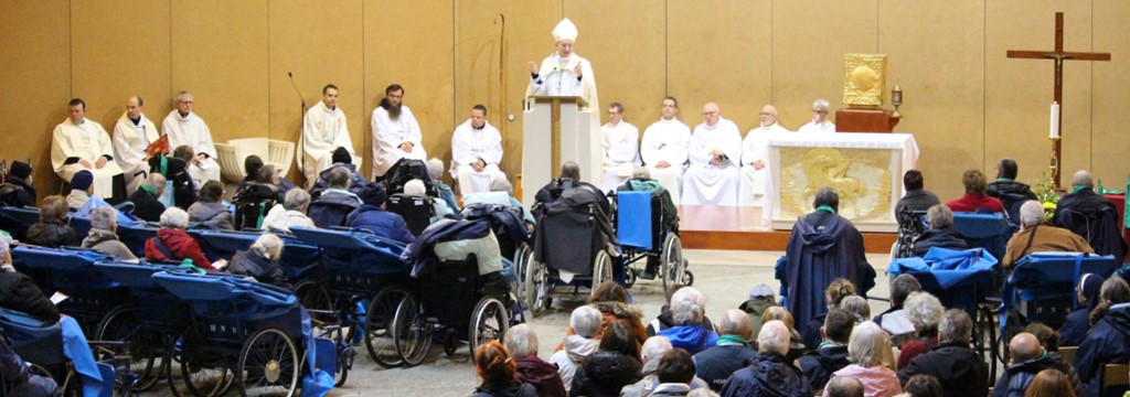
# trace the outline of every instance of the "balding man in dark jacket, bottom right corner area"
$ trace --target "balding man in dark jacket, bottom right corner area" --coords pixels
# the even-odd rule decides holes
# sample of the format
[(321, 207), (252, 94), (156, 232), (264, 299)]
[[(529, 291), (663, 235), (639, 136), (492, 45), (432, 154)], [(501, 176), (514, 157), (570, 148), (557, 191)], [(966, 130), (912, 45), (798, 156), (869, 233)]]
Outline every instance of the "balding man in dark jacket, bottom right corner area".
[(1053, 369), (1068, 376), (1071, 380), (1071, 388), (1076, 396), (1084, 396), (1083, 383), (1079, 382), (1079, 374), (1070, 364), (1059, 359), (1059, 355), (1048, 354), (1040, 339), (1029, 333), (1019, 333), (1008, 343), (1009, 367), (997, 380), (997, 387), (992, 395), (997, 396), (1020, 396), (1032, 385), (1032, 379), (1040, 371)]

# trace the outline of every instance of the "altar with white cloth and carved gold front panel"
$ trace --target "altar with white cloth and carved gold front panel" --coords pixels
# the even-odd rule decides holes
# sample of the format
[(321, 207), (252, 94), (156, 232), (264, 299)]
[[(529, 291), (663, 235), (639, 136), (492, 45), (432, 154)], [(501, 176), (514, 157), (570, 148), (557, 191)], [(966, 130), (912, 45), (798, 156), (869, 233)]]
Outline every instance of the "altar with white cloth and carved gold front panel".
[(774, 133), (766, 139), (768, 174), (762, 222), (789, 230), (812, 212), (816, 191), (840, 194), (840, 214), (860, 231), (898, 230), (894, 208), (904, 194), (903, 173), (914, 168), (919, 148), (912, 134)]

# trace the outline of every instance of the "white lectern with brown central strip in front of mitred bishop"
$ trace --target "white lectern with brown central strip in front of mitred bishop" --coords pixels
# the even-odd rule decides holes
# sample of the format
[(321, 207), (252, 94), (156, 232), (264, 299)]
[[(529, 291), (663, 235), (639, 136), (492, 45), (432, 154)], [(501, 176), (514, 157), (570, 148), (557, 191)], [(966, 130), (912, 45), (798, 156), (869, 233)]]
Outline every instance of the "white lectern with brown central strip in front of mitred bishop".
[(601, 175), (600, 117), (579, 96), (532, 96), (522, 120), (522, 204), (532, 205), (562, 162), (581, 166), (581, 179)]

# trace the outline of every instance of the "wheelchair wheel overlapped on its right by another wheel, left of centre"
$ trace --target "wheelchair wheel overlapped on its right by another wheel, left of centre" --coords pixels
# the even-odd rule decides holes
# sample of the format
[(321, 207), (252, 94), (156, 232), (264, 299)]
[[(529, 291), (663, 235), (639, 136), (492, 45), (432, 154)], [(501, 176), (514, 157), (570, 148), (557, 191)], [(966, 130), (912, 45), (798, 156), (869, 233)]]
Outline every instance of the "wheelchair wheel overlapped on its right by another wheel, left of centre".
[(384, 368), (395, 368), (403, 363), (400, 353), (397, 353), (391, 327), (397, 306), (406, 297), (408, 291), (389, 286), (377, 292), (365, 310), (365, 349), (368, 350), (368, 356)]

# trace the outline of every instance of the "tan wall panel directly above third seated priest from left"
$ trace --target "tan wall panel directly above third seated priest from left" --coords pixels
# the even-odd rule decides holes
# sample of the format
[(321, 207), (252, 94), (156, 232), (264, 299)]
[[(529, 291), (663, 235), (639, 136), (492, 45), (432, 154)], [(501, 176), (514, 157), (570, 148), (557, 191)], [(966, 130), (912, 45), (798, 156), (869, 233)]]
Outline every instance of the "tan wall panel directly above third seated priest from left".
[(214, 141), (270, 136), (267, 0), (174, 0), (173, 15), (173, 80), (150, 117), (164, 118), (186, 89)]

